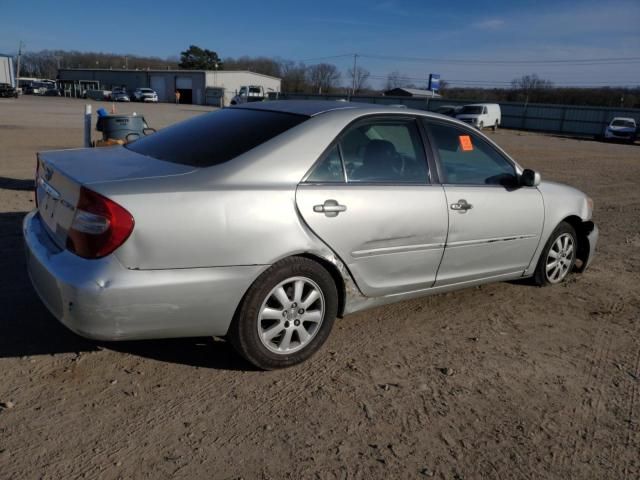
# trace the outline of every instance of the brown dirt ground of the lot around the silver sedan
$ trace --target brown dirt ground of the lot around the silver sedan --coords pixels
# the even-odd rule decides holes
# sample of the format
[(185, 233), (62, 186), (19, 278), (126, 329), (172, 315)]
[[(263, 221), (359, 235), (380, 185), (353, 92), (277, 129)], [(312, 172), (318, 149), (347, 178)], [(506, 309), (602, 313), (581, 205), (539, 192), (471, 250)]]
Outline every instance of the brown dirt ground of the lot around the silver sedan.
[[(118, 107), (158, 128), (207, 110)], [(82, 109), (0, 101), (0, 478), (640, 478), (640, 145), (491, 134), (593, 197), (592, 268), (350, 315), (265, 373), (223, 340), (86, 341), (39, 302), (35, 152), (80, 146)]]

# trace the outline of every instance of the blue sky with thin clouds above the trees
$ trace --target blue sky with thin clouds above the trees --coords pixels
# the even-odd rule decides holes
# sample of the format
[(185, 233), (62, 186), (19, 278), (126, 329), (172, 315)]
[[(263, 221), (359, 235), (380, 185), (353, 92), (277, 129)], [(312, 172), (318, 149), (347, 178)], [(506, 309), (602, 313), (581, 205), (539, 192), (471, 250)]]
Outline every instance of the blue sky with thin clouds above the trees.
[[(508, 85), (533, 73), (557, 85), (640, 85), (640, 0), (110, 0), (104, 6), (0, 0), (0, 6), (0, 53), (6, 54), (20, 40), (27, 51), (163, 58), (194, 44), (222, 58), (326, 61), (343, 72), (357, 53), (374, 87), (392, 71), (418, 85), (429, 73), (459, 86)], [(602, 60), (628, 58), (634, 60)]]

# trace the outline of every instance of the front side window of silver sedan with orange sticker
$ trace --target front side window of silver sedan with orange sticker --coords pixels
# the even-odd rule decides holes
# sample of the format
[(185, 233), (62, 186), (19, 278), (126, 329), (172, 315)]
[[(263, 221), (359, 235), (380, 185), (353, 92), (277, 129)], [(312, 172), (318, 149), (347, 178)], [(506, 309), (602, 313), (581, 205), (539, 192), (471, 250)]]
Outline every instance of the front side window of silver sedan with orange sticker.
[(428, 123), (440, 157), (443, 183), (454, 185), (517, 185), (516, 170), (481, 137), (453, 125)]

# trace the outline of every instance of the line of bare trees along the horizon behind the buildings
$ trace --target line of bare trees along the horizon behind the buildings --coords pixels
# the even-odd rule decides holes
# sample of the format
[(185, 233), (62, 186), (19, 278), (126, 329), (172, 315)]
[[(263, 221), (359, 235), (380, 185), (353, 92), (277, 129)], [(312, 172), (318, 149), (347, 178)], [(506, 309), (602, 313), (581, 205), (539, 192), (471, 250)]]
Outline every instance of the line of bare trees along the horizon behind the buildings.
[[(381, 95), (385, 90), (398, 87), (427, 88), (426, 75), (424, 83), (416, 84), (407, 75), (392, 71), (384, 79), (376, 77), (381, 87), (376, 89), (370, 72), (362, 66), (357, 66), (355, 71), (350, 68), (341, 72), (332, 63), (308, 65), (262, 56), (222, 58), (213, 50), (195, 45), (179, 56), (167, 58), (69, 50), (27, 52), (21, 58), (20, 76), (55, 79), (60, 68), (250, 70), (281, 78), (285, 93), (348, 95), (355, 89), (356, 95)], [(558, 87), (535, 74), (514, 79), (511, 86), (505, 88), (454, 87), (443, 79), (440, 93), (452, 100), (640, 108), (640, 88)]]

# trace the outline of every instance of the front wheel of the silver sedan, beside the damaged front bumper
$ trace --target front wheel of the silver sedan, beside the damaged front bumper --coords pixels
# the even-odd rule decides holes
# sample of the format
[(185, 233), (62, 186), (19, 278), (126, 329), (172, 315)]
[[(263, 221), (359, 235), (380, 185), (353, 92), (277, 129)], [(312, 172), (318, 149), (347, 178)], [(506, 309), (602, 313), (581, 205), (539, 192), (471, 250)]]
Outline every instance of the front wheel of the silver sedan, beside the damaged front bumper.
[(562, 283), (573, 271), (577, 251), (575, 229), (569, 223), (561, 222), (542, 250), (533, 277), (535, 283), (540, 286)]

